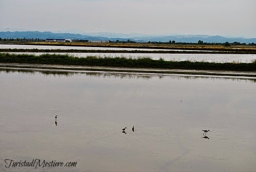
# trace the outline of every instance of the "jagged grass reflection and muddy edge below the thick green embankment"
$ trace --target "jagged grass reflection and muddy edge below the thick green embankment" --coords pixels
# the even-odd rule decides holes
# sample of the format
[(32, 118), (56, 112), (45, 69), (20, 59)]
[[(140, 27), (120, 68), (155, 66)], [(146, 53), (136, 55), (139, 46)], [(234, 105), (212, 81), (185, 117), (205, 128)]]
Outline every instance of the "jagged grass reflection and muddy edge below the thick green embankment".
[[(86, 75), (86, 76), (94, 76), (94, 77), (103, 77), (103, 78), (120, 78), (120, 79), (145, 79), (149, 80), (152, 79), (153, 77), (158, 77), (159, 79), (163, 79), (164, 77), (172, 77), (174, 79), (181, 79), (181, 78), (186, 78), (186, 79), (205, 79), (205, 80), (232, 80), (232, 81), (250, 81), (250, 82), (256, 82), (256, 77), (254, 77), (255, 74), (249, 73), (249, 77), (247, 77), (247, 74), (244, 74), (245, 76), (235, 76), (236, 74), (233, 74), (234, 76), (221, 76), (220, 74), (217, 74), (219, 76), (215, 75), (204, 75), (204, 74), (182, 74), (182, 73), (172, 73), (172, 74), (157, 74), (157, 73), (129, 73), (129, 72), (91, 72), (91, 71), (58, 71), (58, 70), (41, 70), (37, 69), (15, 69), (15, 68), (1, 68), (0, 67), (0, 73), (5, 72), (5, 73), (22, 73), (22, 74), (36, 74), (36, 73), (41, 73), (44, 74), (45, 76), (66, 76), (66, 77), (72, 77), (75, 75)], [(225, 74), (224, 74), (225, 75)], [(227, 75), (227, 74), (226, 74)], [(231, 74), (232, 75), (232, 74)], [(243, 74), (241, 74), (243, 75)]]

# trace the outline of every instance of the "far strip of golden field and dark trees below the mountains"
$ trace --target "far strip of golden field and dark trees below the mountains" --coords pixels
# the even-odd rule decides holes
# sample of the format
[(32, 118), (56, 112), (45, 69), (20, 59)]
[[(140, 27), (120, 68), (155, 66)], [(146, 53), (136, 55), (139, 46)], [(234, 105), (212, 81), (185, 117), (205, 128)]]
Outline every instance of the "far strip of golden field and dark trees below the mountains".
[[(162, 44), (163, 43), (163, 44)], [(90, 42), (4, 42), (3, 45), (31, 45), (31, 46), (69, 46), (69, 47), (99, 47), (99, 48), (133, 48), (133, 49), (161, 49), (175, 51), (212, 51), (213, 53), (256, 54), (256, 46), (221, 46), (221, 45), (186, 45), (186, 44), (152, 43), (90, 43)], [(179, 52), (177, 52), (179, 53)]]

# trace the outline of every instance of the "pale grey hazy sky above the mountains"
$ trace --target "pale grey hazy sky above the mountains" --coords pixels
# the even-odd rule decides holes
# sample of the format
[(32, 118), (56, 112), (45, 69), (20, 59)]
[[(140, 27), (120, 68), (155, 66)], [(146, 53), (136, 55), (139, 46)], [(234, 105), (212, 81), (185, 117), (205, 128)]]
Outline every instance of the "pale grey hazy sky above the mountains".
[(0, 0), (0, 31), (256, 37), (255, 0)]

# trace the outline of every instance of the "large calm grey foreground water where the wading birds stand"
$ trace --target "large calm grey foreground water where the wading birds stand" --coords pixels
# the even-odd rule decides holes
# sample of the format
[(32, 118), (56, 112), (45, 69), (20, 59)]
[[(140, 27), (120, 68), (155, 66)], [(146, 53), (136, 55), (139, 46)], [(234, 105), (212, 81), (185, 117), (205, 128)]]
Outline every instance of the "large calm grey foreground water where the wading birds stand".
[[(0, 171), (256, 171), (255, 86), (238, 78), (2, 71)], [(77, 165), (6, 168), (5, 159)]]

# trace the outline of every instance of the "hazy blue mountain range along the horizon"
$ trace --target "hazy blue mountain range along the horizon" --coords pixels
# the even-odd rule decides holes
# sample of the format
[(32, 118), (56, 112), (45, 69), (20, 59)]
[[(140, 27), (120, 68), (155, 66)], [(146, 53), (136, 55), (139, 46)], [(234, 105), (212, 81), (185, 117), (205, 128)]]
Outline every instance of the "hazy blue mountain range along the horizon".
[[(82, 35), (82, 34), (72, 34), (72, 33), (52, 33), (52, 32), (38, 32), (38, 31), (27, 31), (27, 32), (0, 32), (0, 37), (4, 38), (39, 38), (39, 39), (47, 39), (47, 38), (55, 38), (55, 39), (84, 39), (84, 40), (111, 40), (111, 41), (126, 41), (130, 39), (132, 41), (137, 42), (148, 42), (148, 41), (161, 41), (168, 42), (169, 40), (175, 40), (176, 42), (192, 42), (197, 43), (198, 40), (202, 40), (204, 42), (240, 42), (240, 43), (256, 43), (256, 38), (228, 38), (223, 36), (209, 36), (209, 35), (178, 35), (178, 36), (148, 36), (137, 34), (138, 37), (129, 37), (136, 35), (133, 34), (120, 34), (120, 33), (93, 33), (92, 35)], [(112, 37), (115, 36), (115, 37)], [(119, 37), (118, 37), (119, 36)], [(127, 37), (125, 37), (127, 36)]]

